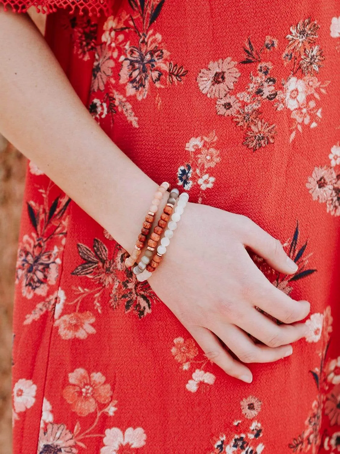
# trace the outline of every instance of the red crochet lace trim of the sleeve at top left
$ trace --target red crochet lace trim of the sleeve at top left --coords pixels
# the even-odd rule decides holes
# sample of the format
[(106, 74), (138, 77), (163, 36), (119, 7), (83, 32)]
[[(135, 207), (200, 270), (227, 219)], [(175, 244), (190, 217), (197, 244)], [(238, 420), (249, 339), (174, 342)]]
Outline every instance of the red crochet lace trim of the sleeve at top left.
[(49, 14), (58, 8), (69, 9), (70, 14), (106, 15), (113, 14), (114, 0), (0, 0), (6, 9), (12, 9), (17, 13), (25, 13), (31, 6), (35, 6), (39, 12)]

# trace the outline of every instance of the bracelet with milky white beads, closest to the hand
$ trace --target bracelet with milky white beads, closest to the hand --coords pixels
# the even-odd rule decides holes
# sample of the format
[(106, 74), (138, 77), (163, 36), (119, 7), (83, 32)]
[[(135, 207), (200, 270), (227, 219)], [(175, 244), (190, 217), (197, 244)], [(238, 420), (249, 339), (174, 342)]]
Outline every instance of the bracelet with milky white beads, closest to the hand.
[[(175, 191), (175, 190), (173, 190)], [(171, 196), (171, 193), (170, 193)], [(166, 247), (170, 244), (170, 239), (174, 236), (174, 230), (177, 228), (177, 222), (180, 221), (180, 217), (184, 212), (184, 208), (189, 200), (189, 195), (186, 192), (183, 192), (177, 202), (177, 206), (175, 207), (174, 214), (171, 215), (171, 221), (167, 224), (167, 229), (164, 232), (164, 237), (160, 240), (160, 246), (157, 247), (157, 253), (155, 253), (151, 260), (152, 251), (146, 251), (145, 255), (142, 257), (141, 262), (142, 266), (144, 266), (144, 271), (141, 271), (140, 263), (135, 266), (133, 272), (137, 275), (138, 281), (146, 281), (155, 271), (157, 266), (159, 266), (163, 255), (166, 252)], [(170, 216), (169, 216), (170, 218)], [(168, 219), (169, 219), (168, 218)], [(151, 252), (151, 254), (150, 254)], [(146, 264), (146, 261), (150, 264)], [(138, 268), (138, 269), (137, 269)]]

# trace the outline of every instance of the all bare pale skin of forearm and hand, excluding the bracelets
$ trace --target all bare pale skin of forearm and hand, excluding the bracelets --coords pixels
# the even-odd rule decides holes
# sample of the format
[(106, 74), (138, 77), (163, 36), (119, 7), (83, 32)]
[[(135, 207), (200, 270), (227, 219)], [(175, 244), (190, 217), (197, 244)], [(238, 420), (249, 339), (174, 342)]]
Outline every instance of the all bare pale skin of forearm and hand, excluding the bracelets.
[[(0, 42), (0, 132), (131, 252), (161, 182), (93, 120), (27, 15), (0, 9)], [(291, 355), (290, 344), (307, 333), (301, 321), (310, 304), (272, 286), (246, 247), (277, 271), (297, 270), (281, 243), (247, 217), (189, 202), (149, 283), (210, 360), (250, 383), (248, 363)]]

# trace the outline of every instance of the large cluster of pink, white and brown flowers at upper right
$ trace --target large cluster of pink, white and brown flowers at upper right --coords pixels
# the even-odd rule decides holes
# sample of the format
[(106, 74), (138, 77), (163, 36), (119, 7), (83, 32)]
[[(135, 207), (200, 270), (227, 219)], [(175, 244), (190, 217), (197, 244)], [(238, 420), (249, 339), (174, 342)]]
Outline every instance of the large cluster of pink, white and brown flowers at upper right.
[(318, 79), (325, 59), (320, 45), (316, 44), (319, 28), (310, 18), (291, 26), (282, 55), (282, 64), (290, 69), (290, 73), (281, 80), (281, 86), (274, 75), (273, 64), (263, 61), (269, 57), (268, 53), (278, 48), (278, 39), (271, 36), (265, 38), (259, 49), (254, 47), (250, 38), (243, 47), (245, 59), (239, 64), (256, 65), (256, 72), (250, 73), (250, 82), (244, 91), (235, 92), (236, 85), (243, 78), (241, 67), (231, 57), (211, 61), (208, 69), (199, 72), (197, 83), (200, 91), (209, 98), (217, 98), (217, 115), (232, 118), (245, 130), (243, 144), (246, 147), (257, 151), (275, 141), (276, 125), (261, 116), (262, 106), (267, 103), (278, 111), (291, 111), (293, 131), (290, 141), (294, 140), (296, 130), (302, 133), (303, 125), (310, 128), (318, 125), (321, 119), (320, 93), (326, 94), (325, 87), (329, 84), (329, 81)]

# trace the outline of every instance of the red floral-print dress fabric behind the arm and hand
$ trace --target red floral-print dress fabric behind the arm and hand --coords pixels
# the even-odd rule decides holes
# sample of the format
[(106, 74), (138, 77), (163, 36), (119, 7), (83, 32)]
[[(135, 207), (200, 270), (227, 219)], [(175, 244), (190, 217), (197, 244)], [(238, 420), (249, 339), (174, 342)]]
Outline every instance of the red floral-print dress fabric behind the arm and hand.
[(250, 365), (252, 384), (229, 377), (29, 163), (15, 454), (340, 451), (339, 15), (331, 0), (129, 0), (114, 17), (49, 16), (75, 90), (144, 172), (284, 243), (295, 276), (253, 260), (311, 301), (311, 335), (289, 358)]

